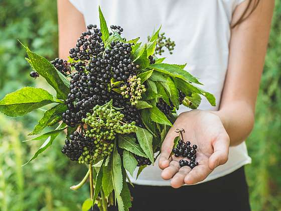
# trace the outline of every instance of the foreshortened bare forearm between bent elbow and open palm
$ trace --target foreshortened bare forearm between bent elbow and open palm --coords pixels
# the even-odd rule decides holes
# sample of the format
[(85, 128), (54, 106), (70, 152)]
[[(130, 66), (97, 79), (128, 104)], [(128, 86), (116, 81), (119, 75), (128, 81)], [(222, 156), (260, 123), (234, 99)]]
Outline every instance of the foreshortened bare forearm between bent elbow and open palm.
[(221, 119), (229, 135), (230, 146), (236, 146), (245, 141), (253, 129), (254, 111), (245, 100), (232, 102), (231, 105), (213, 113)]

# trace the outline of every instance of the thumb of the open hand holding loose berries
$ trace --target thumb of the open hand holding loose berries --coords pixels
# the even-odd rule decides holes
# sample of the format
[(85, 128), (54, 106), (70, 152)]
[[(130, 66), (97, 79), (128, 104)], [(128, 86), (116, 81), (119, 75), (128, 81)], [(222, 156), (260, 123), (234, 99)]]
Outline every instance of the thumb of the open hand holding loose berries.
[(209, 158), (209, 168), (214, 169), (228, 160), (229, 137), (227, 134), (218, 136), (213, 142), (214, 153)]

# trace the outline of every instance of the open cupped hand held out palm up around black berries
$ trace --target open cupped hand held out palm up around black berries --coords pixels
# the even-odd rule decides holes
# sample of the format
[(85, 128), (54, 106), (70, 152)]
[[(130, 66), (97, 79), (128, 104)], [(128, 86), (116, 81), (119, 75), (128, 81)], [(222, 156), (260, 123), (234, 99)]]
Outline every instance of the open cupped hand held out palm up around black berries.
[[(169, 158), (174, 145), (174, 139), (179, 134), (176, 129), (184, 129), (184, 141), (196, 144), (198, 166), (191, 169), (189, 166), (180, 167), (183, 157)], [(228, 160), (229, 136), (227, 135), (220, 118), (207, 111), (190, 111), (182, 113), (169, 130), (161, 149), (159, 167), (163, 169), (162, 178), (171, 179), (174, 188), (184, 184), (195, 184), (204, 180), (218, 165)]]

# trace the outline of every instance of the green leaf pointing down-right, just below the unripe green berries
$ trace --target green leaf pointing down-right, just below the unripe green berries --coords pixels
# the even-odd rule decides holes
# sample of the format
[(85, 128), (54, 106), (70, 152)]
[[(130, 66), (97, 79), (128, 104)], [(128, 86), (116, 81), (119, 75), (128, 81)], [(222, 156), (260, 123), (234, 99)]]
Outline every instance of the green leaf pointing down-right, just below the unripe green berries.
[(122, 149), (132, 152), (135, 155), (146, 157), (142, 147), (135, 143), (135, 138), (131, 135), (118, 136), (118, 146)]

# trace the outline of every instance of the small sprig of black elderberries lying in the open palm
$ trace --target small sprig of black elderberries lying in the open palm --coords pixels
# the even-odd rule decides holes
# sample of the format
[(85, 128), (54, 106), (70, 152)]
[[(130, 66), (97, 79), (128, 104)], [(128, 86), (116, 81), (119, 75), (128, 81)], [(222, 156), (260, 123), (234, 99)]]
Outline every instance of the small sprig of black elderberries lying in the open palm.
[(173, 153), (175, 155), (175, 157), (187, 157), (188, 159), (190, 159), (190, 161), (188, 160), (180, 160), (180, 166), (189, 166), (190, 168), (194, 168), (195, 166), (198, 165), (198, 162), (196, 161), (196, 149), (197, 149), (197, 145), (193, 145), (191, 146), (190, 141), (187, 141), (186, 143), (184, 142), (184, 138), (182, 133), (184, 132), (184, 130), (178, 130), (176, 131), (177, 133), (181, 133), (181, 139), (178, 141), (178, 144), (175, 148), (173, 148)]

